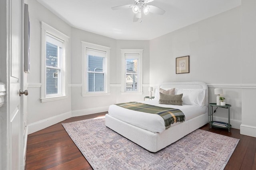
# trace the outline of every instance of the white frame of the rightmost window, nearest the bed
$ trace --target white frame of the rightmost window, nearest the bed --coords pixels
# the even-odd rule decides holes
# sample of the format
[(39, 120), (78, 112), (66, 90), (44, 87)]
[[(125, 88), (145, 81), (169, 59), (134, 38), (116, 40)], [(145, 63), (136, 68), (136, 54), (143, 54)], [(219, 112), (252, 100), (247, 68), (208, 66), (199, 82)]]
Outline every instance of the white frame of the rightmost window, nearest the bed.
[[(126, 55), (134, 55), (138, 59), (138, 84), (137, 91), (126, 91)], [(135, 55), (134, 55), (135, 56)], [(138, 94), (142, 95), (142, 85), (143, 85), (143, 49), (121, 49), (121, 94)]]

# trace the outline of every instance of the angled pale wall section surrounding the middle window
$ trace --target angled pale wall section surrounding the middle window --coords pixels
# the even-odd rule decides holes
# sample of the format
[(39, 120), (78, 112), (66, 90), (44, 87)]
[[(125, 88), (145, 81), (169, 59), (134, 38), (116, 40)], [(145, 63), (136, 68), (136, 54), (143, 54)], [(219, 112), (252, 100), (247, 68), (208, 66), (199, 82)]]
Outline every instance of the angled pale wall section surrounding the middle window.
[(72, 116), (108, 111), (108, 106), (116, 102), (116, 96), (110, 88), (108, 96), (82, 97), (82, 44), (81, 41), (110, 47), (110, 83), (116, 79), (116, 40), (72, 28), (71, 49), (71, 104)]

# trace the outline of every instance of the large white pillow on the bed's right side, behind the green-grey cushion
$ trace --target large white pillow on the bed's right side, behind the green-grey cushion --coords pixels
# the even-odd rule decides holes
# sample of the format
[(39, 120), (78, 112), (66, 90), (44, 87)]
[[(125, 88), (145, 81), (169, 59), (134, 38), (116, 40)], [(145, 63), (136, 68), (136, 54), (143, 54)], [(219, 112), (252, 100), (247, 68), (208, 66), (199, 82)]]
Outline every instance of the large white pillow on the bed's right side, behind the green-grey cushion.
[(183, 94), (182, 104), (203, 107), (205, 104), (205, 89), (181, 89), (176, 88), (175, 94)]

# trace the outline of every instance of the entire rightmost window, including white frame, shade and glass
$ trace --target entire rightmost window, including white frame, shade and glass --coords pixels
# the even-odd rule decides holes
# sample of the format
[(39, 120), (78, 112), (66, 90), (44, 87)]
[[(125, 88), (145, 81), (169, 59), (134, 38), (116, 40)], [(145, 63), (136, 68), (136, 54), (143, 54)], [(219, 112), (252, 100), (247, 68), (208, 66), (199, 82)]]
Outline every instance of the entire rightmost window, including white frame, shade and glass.
[(141, 49), (122, 49), (122, 94), (142, 94)]

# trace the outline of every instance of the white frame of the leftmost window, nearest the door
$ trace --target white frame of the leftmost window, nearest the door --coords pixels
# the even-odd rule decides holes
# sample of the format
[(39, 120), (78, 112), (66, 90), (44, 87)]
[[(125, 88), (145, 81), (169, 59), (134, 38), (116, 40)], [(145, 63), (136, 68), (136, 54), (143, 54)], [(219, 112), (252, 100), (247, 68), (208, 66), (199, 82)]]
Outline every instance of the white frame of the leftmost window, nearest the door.
[[(57, 29), (41, 21), (41, 58), (42, 58), (42, 87), (41, 87), (41, 102), (50, 102), (54, 100), (61, 100), (68, 98), (68, 73), (67, 73), (67, 61), (68, 61), (68, 41), (69, 38), (64, 33), (61, 33)], [(58, 88), (58, 94), (46, 94), (46, 35), (56, 38), (63, 43), (62, 56), (60, 57), (60, 88)]]

